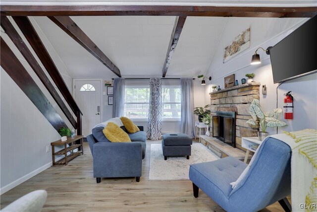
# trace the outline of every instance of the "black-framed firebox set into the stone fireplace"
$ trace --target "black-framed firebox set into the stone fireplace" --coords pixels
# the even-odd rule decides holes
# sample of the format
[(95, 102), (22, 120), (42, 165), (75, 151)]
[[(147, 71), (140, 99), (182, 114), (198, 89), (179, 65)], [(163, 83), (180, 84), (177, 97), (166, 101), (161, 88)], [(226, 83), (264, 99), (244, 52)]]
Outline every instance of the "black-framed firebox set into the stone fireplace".
[(212, 137), (236, 147), (235, 129), (236, 113), (231, 111), (216, 111), (212, 116)]

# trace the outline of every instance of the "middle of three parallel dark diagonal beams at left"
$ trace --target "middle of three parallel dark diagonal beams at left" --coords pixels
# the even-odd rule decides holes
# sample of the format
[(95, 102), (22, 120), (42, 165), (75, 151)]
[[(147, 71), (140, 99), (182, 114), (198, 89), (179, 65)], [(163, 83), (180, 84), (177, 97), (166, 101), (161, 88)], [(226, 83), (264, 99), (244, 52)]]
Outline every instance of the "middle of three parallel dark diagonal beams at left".
[(43, 82), (44, 86), (48, 89), (50, 94), (52, 95), (53, 99), (57, 103), (57, 105), (60, 107), (62, 112), (65, 114), (71, 125), (77, 129), (77, 123), (72, 114), (67, 109), (65, 103), (58, 95), (57, 91), (55, 90), (53, 84), (51, 83), (50, 79), (47, 77), (45, 72), (42, 70), (41, 66), (37, 62), (37, 60), (32, 55), (29, 48), (26, 46), (22, 38), (20, 37), (19, 33), (14, 29), (13, 25), (9, 21), (9, 19), (6, 16), (1, 16), (0, 21), (1, 27), (5, 31), (5, 33), (9, 36), (9, 38), (12, 40), (14, 45), (17, 47), (17, 49), (20, 51), (20, 53), (23, 55), (23, 57), (26, 59), (28, 64), (31, 66), (31, 68), (35, 71), (35, 73), (38, 75), (40, 80)]

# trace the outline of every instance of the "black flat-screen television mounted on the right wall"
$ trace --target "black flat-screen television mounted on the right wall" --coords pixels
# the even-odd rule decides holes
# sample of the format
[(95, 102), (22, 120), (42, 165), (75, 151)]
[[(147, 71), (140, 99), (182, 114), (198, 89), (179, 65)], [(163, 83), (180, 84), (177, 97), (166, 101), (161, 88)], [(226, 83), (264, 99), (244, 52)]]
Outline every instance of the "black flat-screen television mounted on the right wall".
[(270, 49), (274, 83), (317, 72), (317, 15)]

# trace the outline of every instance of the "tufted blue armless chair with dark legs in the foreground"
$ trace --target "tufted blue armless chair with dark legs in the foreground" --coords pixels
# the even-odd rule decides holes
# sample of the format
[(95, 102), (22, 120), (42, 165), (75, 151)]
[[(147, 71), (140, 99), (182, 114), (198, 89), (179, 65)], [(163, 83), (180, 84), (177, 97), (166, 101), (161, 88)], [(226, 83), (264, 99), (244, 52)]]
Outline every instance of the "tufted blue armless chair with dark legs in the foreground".
[(247, 164), (225, 157), (216, 161), (192, 164), (189, 179), (194, 197), (199, 188), (228, 212), (256, 212), (278, 201), (290, 211), (286, 196), (291, 193), (291, 149), (282, 141), (266, 139), (245, 178), (234, 189)]

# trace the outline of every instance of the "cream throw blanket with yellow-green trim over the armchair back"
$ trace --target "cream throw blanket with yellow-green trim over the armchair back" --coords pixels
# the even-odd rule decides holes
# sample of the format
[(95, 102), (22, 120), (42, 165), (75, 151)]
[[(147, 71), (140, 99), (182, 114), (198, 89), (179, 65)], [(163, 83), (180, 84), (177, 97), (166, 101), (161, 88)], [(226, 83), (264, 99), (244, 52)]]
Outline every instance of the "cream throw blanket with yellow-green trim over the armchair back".
[[(291, 158), (291, 199), (293, 212), (317, 209), (317, 130), (285, 132), (270, 136), (288, 144)], [(315, 208), (314, 208), (315, 204)]]

